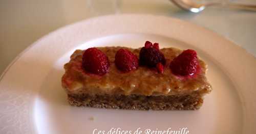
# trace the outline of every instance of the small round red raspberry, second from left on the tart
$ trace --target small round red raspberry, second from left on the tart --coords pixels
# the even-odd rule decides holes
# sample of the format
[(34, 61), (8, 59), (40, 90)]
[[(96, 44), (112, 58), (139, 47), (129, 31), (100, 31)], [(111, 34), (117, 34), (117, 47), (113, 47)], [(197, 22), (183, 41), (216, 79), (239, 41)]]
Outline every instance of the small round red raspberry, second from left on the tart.
[(127, 49), (119, 49), (115, 55), (116, 67), (121, 71), (131, 71), (139, 67), (139, 60)]

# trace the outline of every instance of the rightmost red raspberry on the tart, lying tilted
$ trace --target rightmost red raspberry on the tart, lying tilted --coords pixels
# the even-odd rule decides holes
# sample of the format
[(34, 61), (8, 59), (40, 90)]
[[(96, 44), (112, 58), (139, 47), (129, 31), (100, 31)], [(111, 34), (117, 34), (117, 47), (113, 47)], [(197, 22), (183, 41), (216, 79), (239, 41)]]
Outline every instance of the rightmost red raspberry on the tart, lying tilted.
[(195, 50), (184, 50), (170, 63), (170, 69), (174, 74), (186, 76), (193, 75), (197, 71), (197, 52)]

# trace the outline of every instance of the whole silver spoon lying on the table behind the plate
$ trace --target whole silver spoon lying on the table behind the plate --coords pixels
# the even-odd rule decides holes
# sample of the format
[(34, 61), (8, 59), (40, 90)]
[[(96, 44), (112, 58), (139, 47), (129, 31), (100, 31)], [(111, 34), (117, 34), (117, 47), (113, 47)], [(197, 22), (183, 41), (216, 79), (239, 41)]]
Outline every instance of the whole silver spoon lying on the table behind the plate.
[(236, 3), (197, 4), (192, 0), (170, 0), (170, 1), (172, 1), (178, 7), (194, 13), (201, 12), (206, 7), (210, 7), (210, 6), (223, 6), (227, 8), (234, 8), (234, 9), (240, 9), (240, 10), (256, 11), (256, 5), (245, 5), (245, 4), (236, 4)]

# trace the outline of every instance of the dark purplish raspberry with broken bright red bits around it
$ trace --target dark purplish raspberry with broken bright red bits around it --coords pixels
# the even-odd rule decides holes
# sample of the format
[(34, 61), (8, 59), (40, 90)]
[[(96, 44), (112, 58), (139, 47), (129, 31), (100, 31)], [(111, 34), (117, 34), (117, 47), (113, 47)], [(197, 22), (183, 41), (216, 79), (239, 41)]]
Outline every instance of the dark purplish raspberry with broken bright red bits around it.
[(159, 50), (158, 43), (154, 43), (154, 45), (148, 45), (151, 43), (148, 42), (149, 41), (146, 41), (145, 47), (140, 49), (140, 64), (146, 65), (148, 67), (156, 67), (157, 63), (162, 63), (165, 65), (165, 58), (163, 53), (161, 53)]

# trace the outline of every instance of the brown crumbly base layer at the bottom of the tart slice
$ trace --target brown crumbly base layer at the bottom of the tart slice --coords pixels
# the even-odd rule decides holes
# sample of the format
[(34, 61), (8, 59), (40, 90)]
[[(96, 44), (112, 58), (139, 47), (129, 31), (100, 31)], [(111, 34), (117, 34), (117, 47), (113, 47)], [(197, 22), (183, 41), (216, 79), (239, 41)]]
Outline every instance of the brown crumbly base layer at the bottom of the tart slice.
[(198, 110), (203, 104), (202, 96), (199, 94), (170, 96), (82, 94), (68, 95), (68, 101), (74, 106), (125, 110)]

